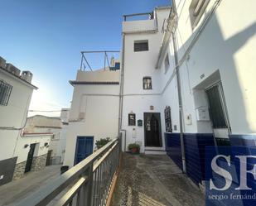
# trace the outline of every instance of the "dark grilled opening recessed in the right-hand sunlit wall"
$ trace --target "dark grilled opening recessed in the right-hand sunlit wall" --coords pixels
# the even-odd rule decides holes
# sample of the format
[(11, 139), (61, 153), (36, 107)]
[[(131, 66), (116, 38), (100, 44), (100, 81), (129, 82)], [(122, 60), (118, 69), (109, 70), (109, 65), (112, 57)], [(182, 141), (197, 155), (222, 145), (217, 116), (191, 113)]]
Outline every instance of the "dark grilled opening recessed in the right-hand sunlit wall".
[(210, 119), (214, 128), (227, 128), (219, 87), (219, 85), (215, 85), (206, 90), (210, 108)]

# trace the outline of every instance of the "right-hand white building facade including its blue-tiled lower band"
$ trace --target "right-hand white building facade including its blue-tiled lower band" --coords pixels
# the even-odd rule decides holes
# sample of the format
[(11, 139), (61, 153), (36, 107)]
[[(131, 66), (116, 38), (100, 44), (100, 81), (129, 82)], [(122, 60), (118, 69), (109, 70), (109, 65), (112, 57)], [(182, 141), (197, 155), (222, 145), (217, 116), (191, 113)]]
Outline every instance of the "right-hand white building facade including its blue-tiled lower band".
[(176, 1), (173, 33), (157, 67), (166, 88), (162, 107), (171, 108), (167, 151), (196, 184), (205, 178), (205, 146), (255, 146), (255, 6), (255, 1)]

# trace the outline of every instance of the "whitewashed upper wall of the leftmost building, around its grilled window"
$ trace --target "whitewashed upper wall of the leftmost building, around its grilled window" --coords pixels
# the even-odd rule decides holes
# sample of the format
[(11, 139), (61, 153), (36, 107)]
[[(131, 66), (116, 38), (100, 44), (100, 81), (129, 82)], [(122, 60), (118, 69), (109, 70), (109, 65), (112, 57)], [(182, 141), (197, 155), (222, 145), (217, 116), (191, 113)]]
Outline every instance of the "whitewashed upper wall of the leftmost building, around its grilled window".
[[(0, 105), (0, 127), (24, 127), (33, 88), (22, 83), (22, 80), (12, 77), (12, 74), (5, 74), (2, 70), (0, 70), (0, 79), (12, 85), (7, 106)], [(0, 129), (0, 160), (13, 157), (18, 137), (18, 130)]]

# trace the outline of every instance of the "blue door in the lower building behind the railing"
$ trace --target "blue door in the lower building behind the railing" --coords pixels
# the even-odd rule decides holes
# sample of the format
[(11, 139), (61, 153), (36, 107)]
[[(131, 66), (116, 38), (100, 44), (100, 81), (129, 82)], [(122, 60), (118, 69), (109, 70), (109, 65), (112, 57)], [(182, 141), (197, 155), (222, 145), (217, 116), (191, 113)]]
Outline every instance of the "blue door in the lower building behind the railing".
[(93, 153), (94, 137), (77, 137), (75, 148), (75, 165)]

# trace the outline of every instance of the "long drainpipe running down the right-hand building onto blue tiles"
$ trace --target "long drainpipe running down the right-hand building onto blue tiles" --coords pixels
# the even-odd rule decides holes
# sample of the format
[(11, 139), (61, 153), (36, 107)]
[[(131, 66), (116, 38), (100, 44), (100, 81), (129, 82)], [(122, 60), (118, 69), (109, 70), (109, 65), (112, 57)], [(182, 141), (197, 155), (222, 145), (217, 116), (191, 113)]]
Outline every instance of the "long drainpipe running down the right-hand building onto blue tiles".
[[(176, 14), (175, 0), (172, 1), (172, 9), (173, 9), (173, 12)], [(184, 135), (183, 135), (183, 107), (182, 107), (182, 98), (181, 98), (181, 74), (180, 74), (180, 66), (179, 66), (179, 60), (178, 60), (178, 55), (177, 55), (176, 33), (175, 33), (175, 31), (176, 31), (175, 29), (173, 31), (171, 31), (171, 36), (172, 36), (172, 44), (173, 44), (173, 50), (174, 50), (177, 92), (178, 92), (178, 101), (179, 101), (182, 170), (183, 170), (183, 173), (186, 173), (186, 156), (185, 156)]]

